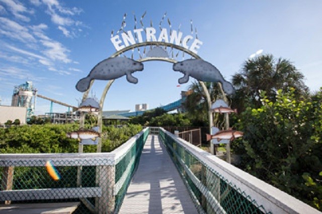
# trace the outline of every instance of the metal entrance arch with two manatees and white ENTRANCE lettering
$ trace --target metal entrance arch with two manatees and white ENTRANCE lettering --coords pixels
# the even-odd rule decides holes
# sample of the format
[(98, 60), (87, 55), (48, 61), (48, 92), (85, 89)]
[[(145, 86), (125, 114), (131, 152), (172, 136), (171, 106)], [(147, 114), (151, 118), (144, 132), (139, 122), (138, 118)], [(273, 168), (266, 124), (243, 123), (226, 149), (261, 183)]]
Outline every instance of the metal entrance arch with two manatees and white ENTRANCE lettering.
[[(166, 14), (167, 13), (164, 14), (162, 20), (159, 22), (158, 29), (153, 27), (152, 21), (148, 27), (144, 26), (143, 18), (146, 15), (146, 12), (139, 20), (137, 20), (136, 16), (133, 14), (133, 29), (125, 29), (126, 14), (124, 14), (121, 28), (117, 30), (116, 34), (114, 34), (114, 30), (111, 32), (110, 40), (116, 49), (116, 52), (108, 59), (97, 64), (87, 77), (79, 80), (76, 84), (76, 89), (78, 91), (85, 92), (83, 94), (84, 101), (89, 95), (94, 80), (109, 80), (100, 99), (98, 117), (98, 125), (100, 126), (99, 133), (102, 133), (102, 109), (104, 100), (114, 80), (126, 76), (128, 82), (136, 84), (138, 80), (132, 76), (132, 73), (142, 71), (143, 62), (164, 61), (173, 63), (173, 70), (184, 74), (184, 76), (179, 79), (179, 84), (188, 82), (189, 77), (193, 77), (199, 81), (209, 106), (208, 119), (210, 130), (213, 126), (213, 115), (210, 109), (211, 98), (204, 82), (221, 83), (219, 84), (219, 87), (222, 88), (224, 98), (226, 94), (234, 93), (233, 86), (223, 78), (219, 70), (197, 55), (203, 42), (198, 39), (197, 29), (193, 27), (192, 20), (190, 21), (190, 34), (187, 34), (180, 31), (181, 24), (177, 30), (173, 30), (169, 18), (169, 27), (164, 28), (163, 21)], [(139, 24), (140, 26), (138, 26)], [(180, 60), (178, 60), (179, 58)], [(84, 127), (84, 120), (85, 117), (83, 114), (79, 122), (80, 127)], [(228, 128), (229, 124), (225, 126)], [(102, 139), (99, 138), (97, 151), (101, 152), (101, 148)], [(211, 143), (211, 153), (214, 151), (213, 148), (213, 143)], [(83, 147), (82, 149), (79, 149), (79, 151), (82, 152)]]

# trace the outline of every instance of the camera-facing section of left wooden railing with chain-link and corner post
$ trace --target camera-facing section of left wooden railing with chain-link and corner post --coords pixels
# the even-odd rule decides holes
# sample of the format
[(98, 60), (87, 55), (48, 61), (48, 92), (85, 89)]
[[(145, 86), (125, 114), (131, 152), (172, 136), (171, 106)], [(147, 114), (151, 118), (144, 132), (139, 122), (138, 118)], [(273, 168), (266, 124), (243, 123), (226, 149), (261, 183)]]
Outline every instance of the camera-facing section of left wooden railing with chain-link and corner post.
[[(53, 180), (46, 170), (47, 160), (41, 158), (0, 160), (2, 166), (0, 201), (11, 201), (11, 203), (83, 201), (75, 213), (108, 209), (106, 201), (109, 199), (107, 196), (109, 192), (106, 191), (109, 190), (108, 181), (113, 175), (109, 173), (107, 167), (114, 167), (114, 159), (51, 160), (60, 174), (60, 179), (57, 181)], [(82, 167), (82, 183), (79, 187), (77, 187), (78, 167)]]

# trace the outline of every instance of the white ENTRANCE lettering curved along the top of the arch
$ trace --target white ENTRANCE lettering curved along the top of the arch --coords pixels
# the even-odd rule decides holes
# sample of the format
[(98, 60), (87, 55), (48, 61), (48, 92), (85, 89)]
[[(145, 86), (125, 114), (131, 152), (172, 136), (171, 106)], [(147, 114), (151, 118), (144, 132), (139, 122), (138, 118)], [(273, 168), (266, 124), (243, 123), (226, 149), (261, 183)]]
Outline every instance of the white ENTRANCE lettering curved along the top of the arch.
[(195, 54), (198, 53), (198, 49), (202, 45), (200, 40), (197, 38), (194, 39), (191, 35), (183, 37), (183, 33), (181, 31), (170, 30), (170, 32), (168, 32), (166, 28), (163, 28), (159, 34), (156, 34), (156, 30), (153, 27), (134, 29), (133, 33), (132, 31), (124, 31), (121, 33), (121, 37), (119, 35), (113, 36), (111, 38), (111, 42), (116, 51), (120, 51), (130, 45), (143, 43), (144, 39), (146, 42), (172, 43), (182, 46)]

